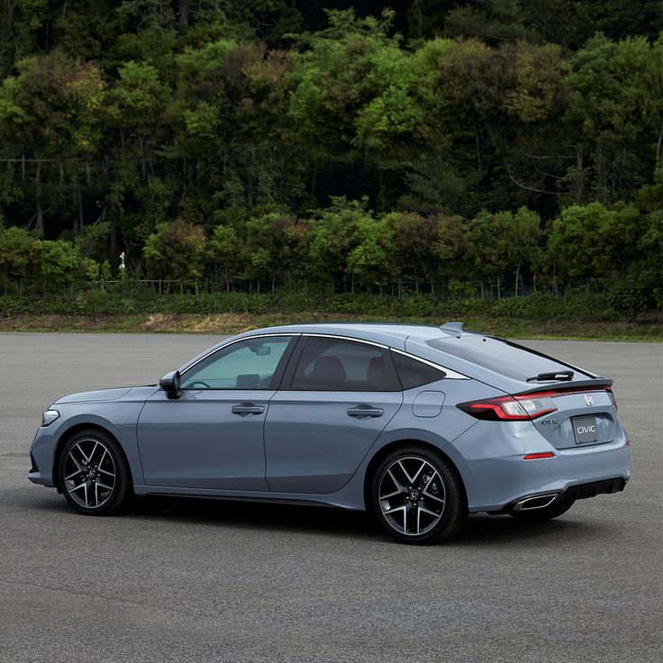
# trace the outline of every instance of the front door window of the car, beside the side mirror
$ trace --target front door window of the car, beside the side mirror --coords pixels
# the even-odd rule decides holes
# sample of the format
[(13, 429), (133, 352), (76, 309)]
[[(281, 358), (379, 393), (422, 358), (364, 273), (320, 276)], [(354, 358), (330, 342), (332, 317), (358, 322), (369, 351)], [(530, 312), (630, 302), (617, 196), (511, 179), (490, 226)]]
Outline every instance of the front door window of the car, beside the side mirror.
[(182, 389), (269, 389), (292, 336), (232, 343), (182, 376)]

